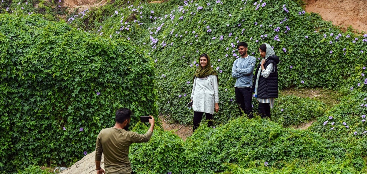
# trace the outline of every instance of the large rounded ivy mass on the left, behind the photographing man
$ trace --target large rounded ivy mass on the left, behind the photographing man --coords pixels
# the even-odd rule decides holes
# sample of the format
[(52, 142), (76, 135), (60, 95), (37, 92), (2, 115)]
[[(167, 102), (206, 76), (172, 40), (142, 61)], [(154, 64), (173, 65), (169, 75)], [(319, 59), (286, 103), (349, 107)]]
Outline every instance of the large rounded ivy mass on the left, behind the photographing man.
[(70, 165), (94, 150), (119, 107), (134, 111), (132, 124), (157, 115), (151, 62), (65, 22), (0, 14), (1, 171)]

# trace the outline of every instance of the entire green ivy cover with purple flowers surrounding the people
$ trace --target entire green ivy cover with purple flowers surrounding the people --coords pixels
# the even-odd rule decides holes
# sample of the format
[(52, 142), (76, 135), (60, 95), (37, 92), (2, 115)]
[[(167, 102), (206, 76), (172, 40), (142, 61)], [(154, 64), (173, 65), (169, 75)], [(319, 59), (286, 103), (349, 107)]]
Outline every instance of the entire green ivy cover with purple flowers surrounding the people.
[[(367, 173), (367, 34), (342, 31), (302, 5), (114, 0), (63, 21), (58, 2), (4, 0), (0, 168), (75, 162), (113, 125), (119, 106), (192, 124), (186, 103), (207, 53), (219, 75), (215, 128), (200, 127), (183, 142), (157, 127), (149, 143), (131, 147), (136, 173)], [(338, 93), (335, 103), (281, 93), (272, 118), (240, 116), (231, 69), (241, 41), (257, 58), (262, 43), (274, 47), (281, 92), (324, 88)], [(307, 131), (290, 128), (310, 120)], [(134, 131), (145, 129), (138, 123)], [(62, 142), (68, 138), (71, 145)]]

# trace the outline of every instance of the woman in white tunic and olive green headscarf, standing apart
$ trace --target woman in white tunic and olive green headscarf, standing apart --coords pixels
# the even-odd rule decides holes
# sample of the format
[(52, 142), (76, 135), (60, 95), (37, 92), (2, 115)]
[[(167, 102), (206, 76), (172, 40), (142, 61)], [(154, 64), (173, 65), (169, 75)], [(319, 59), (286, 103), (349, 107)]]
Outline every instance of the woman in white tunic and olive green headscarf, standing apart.
[[(210, 58), (207, 54), (200, 55), (200, 64), (194, 74), (194, 83), (191, 93), (192, 108), (194, 110), (193, 131), (201, 122), (203, 113), (206, 120), (212, 120), (214, 111), (219, 111), (218, 98), (218, 74), (210, 65)], [(208, 122), (211, 127), (212, 121)]]

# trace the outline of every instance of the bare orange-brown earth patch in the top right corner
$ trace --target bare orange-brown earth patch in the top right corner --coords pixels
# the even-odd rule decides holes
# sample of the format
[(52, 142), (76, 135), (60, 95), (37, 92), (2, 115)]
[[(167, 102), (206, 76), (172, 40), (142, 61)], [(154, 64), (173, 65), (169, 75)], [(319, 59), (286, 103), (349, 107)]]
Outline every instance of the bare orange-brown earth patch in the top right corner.
[[(366, 0), (304, 0), (305, 10), (319, 13), (323, 20), (343, 29), (351, 25), (354, 29), (367, 32)], [(358, 31), (356, 31), (359, 33)]]

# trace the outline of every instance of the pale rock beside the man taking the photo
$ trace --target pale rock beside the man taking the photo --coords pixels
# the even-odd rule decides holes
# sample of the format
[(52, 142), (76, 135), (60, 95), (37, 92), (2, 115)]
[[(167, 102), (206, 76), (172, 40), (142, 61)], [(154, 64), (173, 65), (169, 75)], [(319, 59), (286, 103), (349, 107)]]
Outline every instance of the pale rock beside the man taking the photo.
[[(101, 168), (105, 169), (105, 161), (101, 160)], [(68, 169), (63, 170), (59, 174), (96, 174), (95, 171), (95, 151), (87, 154), (83, 159), (77, 161), (74, 165)]]

